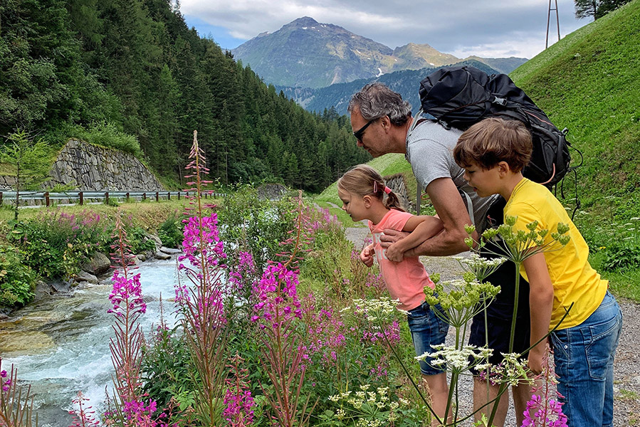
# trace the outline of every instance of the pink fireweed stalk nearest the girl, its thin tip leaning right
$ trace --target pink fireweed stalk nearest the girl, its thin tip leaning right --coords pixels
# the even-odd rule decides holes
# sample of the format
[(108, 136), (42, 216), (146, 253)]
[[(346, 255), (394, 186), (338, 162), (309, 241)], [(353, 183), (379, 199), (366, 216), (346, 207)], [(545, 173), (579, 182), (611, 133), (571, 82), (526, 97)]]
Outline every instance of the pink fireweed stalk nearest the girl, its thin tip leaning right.
[(261, 384), (271, 409), (273, 423), (280, 427), (303, 427), (309, 423), (309, 399), (300, 402), (300, 391), (305, 379), (305, 366), (301, 363), (304, 349), (298, 346), (297, 320), (302, 317), (297, 295), (298, 270), (295, 268), (303, 243), (308, 242), (308, 217), (302, 191), (298, 195), (295, 228), (283, 242), (289, 248), (282, 255), (285, 263), (271, 263), (254, 288), (252, 322), (264, 332), (261, 339), (263, 366), (273, 388)]

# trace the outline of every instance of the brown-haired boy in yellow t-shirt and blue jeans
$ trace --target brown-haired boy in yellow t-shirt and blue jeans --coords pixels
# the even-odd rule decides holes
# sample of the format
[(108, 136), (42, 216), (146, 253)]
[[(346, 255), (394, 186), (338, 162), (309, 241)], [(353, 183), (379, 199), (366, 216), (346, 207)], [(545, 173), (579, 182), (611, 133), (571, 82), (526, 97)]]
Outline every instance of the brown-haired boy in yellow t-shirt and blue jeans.
[[(607, 280), (589, 265), (589, 247), (562, 204), (545, 186), (523, 177), (532, 151), (530, 132), (522, 122), (491, 117), (461, 135), (453, 158), (478, 196), (503, 196), (505, 216), (518, 217), (515, 228), (527, 231), (525, 226), (537, 221), (538, 228), (555, 231), (558, 223), (569, 224), (566, 246), (523, 262), (522, 275), (530, 285), (531, 344), (555, 327), (573, 303), (551, 334), (562, 411), (570, 427), (609, 427), (622, 313)], [(542, 371), (544, 352), (544, 342), (529, 352), (535, 374)]]

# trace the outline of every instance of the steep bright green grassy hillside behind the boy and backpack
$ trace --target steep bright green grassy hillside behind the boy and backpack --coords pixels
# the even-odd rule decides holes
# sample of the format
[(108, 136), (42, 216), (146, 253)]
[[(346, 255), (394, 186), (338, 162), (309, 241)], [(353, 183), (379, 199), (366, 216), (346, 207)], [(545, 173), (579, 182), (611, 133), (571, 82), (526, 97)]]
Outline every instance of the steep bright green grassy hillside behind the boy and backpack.
[[(583, 206), (640, 199), (640, 1), (571, 33), (511, 73), (582, 154)], [(578, 156), (574, 156), (578, 160)], [(609, 199), (606, 199), (609, 197)], [(639, 216), (640, 207), (625, 203)]]

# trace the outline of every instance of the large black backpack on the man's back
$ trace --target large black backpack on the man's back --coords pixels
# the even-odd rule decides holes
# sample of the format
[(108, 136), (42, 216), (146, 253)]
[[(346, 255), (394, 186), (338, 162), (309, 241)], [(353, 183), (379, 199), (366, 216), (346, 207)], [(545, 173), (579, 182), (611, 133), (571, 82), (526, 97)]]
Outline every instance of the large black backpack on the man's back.
[(533, 154), (523, 175), (532, 181), (551, 188), (572, 169), (567, 129), (558, 130), (508, 75), (489, 76), (471, 66), (441, 68), (420, 82), (420, 102), (445, 127), (466, 130), (486, 117), (524, 122)]

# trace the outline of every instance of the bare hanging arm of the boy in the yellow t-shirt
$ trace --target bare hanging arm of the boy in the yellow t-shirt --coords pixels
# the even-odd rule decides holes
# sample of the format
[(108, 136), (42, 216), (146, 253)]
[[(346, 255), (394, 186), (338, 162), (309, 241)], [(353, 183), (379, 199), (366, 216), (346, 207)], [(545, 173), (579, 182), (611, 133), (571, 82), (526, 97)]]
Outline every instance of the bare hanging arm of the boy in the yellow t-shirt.
[[(531, 341), (535, 344), (549, 332), (553, 310), (553, 284), (547, 270), (544, 253), (537, 253), (523, 261), (529, 279), (529, 309), (531, 316)], [(545, 339), (529, 351), (529, 369), (534, 374), (542, 372), (542, 357), (545, 355)]]

